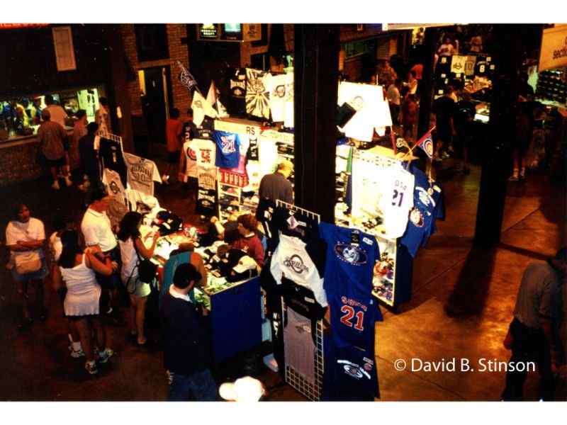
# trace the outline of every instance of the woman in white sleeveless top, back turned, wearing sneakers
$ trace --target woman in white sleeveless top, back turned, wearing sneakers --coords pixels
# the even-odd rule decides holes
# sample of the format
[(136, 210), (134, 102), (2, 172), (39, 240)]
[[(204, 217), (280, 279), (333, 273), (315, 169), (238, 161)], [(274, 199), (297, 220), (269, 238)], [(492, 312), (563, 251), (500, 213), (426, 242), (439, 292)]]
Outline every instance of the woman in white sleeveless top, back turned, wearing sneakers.
[[(106, 346), (106, 331), (101, 322), (101, 286), (96, 282), (95, 272), (111, 276), (118, 264), (101, 251), (87, 248), (84, 252), (79, 246), (79, 234), (75, 229), (68, 229), (61, 235), (63, 250), (54, 268), (53, 280), (56, 286), (67, 286), (64, 300), (64, 312), (74, 321), (79, 331), (79, 338), (86, 358), (84, 365), (91, 375), (98, 373), (94, 347), (99, 348), (99, 363), (106, 363), (114, 351)], [(96, 341), (93, 339), (93, 334)]]

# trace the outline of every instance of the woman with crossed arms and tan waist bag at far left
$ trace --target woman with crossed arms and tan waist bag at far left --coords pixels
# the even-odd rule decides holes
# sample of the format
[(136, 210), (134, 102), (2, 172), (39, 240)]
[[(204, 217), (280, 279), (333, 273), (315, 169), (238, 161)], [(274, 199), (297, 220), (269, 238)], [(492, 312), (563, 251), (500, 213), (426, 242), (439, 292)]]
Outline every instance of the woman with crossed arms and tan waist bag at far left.
[(35, 294), (40, 307), (40, 320), (45, 321), (47, 310), (43, 305), (43, 278), (47, 276), (47, 265), (43, 244), (45, 227), (41, 220), (30, 216), (30, 210), (24, 203), (13, 207), (13, 220), (6, 226), (6, 247), (10, 250), (12, 278), (18, 285), (18, 295), (22, 299), (23, 319), (18, 329), (27, 327), (33, 319), (28, 306), (28, 283), (35, 282)]

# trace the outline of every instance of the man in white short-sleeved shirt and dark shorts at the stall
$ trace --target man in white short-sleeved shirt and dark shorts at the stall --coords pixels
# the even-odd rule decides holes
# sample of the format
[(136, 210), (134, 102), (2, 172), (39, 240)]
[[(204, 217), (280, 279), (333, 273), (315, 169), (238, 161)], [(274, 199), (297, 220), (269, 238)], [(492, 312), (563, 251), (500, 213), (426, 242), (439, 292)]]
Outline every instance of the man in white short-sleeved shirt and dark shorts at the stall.
[[(91, 192), (89, 208), (84, 213), (81, 222), (81, 231), (83, 232), (84, 242), (96, 250), (101, 250), (105, 256), (113, 261), (113, 268), (120, 270), (120, 251), (117, 249), (118, 243), (112, 231), (111, 220), (106, 215), (108, 205), (111, 202), (111, 196), (108, 195), (104, 188), (94, 188)], [(118, 300), (118, 285), (120, 285), (120, 276), (113, 273), (111, 276), (96, 275), (96, 280), (103, 288), (103, 311), (111, 314), (113, 308), (111, 302), (113, 299)], [(118, 322), (121, 322), (118, 320)]]

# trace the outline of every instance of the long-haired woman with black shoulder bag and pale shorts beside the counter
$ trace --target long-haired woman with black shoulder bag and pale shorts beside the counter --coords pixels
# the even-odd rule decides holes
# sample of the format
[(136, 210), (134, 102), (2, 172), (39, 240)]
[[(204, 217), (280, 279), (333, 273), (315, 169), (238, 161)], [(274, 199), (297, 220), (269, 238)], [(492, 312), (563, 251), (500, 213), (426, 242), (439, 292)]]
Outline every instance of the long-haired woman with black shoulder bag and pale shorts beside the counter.
[(118, 245), (122, 259), (120, 277), (130, 293), (130, 332), (133, 336), (137, 335), (137, 344), (142, 346), (147, 341), (144, 334), (144, 320), (147, 296), (152, 290), (148, 282), (140, 280), (140, 263), (151, 259), (154, 255), (159, 232), (153, 235), (152, 246), (148, 249), (140, 236), (140, 225), (142, 225), (140, 212), (127, 212), (120, 222)]

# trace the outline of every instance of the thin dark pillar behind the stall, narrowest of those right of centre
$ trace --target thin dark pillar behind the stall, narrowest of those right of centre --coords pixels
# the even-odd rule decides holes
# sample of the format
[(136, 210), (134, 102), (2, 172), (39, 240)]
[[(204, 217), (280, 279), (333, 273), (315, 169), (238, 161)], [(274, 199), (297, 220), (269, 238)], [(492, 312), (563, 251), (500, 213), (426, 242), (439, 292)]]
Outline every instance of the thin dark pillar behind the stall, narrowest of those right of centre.
[(433, 101), (435, 40), (437, 29), (425, 28), (425, 39), (422, 47), (423, 72), (420, 81), (420, 116), (417, 123), (417, 139), (430, 130), (431, 104)]

